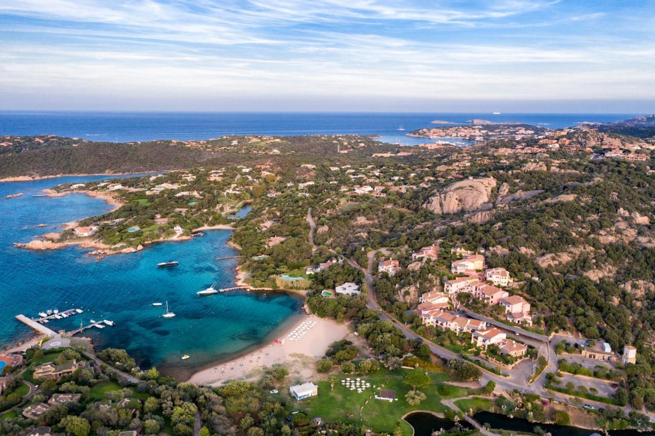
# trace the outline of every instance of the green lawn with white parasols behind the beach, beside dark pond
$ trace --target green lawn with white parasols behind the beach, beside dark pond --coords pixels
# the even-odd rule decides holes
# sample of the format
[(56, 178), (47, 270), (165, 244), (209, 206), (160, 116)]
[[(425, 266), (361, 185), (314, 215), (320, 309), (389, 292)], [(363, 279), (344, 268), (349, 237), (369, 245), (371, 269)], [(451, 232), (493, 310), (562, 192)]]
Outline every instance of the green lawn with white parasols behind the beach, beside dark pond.
[[(330, 390), (328, 381), (318, 382), (318, 396), (301, 401), (297, 407), (307, 410), (310, 416), (320, 416), (324, 420), (343, 420), (345, 422), (362, 423), (371, 426), (375, 431), (393, 433), (400, 425), (400, 418), (411, 410), (433, 410), (443, 412), (447, 409), (441, 404), (443, 396), (438, 392), (441, 382), (447, 380), (447, 374), (443, 372), (430, 372), (432, 384), (421, 389), (426, 399), (418, 406), (412, 406), (405, 401), (405, 393), (411, 390), (410, 386), (403, 383), (402, 376), (408, 370), (399, 369), (388, 371), (382, 369), (371, 376), (361, 377), (371, 384), (371, 388), (362, 393), (350, 391), (341, 384), (346, 378), (344, 374), (337, 374), (337, 382), (334, 390)], [(348, 375), (353, 378), (356, 376)], [(383, 389), (396, 391), (398, 401), (377, 400), (373, 385), (382, 386)], [(457, 398), (466, 395), (468, 389), (457, 386), (448, 386), (447, 397)], [(409, 433), (411, 435), (411, 432)]]

